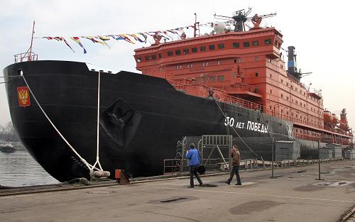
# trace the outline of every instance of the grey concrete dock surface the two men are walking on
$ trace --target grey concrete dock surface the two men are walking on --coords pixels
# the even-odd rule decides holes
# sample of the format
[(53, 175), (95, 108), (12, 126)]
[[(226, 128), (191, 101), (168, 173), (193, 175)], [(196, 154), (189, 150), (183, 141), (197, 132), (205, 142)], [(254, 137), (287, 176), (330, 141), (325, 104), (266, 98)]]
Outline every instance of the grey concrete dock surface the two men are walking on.
[[(339, 221), (355, 206), (355, 160), (129, 185), (0, 196), (0, 221)], [(195, 180), (195, 184), (198, 182)]]

